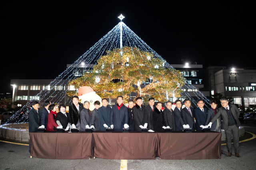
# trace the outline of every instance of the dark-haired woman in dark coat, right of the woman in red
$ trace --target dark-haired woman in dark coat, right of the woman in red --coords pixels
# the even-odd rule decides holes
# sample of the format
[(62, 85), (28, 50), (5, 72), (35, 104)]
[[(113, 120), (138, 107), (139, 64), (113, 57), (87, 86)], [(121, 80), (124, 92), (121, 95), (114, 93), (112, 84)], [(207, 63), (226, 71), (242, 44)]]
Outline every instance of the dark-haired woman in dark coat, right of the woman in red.
[(59, 110), (60, 112), (58, 112), (56, 115), (56, 123), (59, 126), (62, 126), (63, 129), (65, 129), (65, 131), (68, 131), (69, 125), (70, 125), (70, 119), (69, 119), (69, 114), (66, 113), (66, 105), (60, 104)]

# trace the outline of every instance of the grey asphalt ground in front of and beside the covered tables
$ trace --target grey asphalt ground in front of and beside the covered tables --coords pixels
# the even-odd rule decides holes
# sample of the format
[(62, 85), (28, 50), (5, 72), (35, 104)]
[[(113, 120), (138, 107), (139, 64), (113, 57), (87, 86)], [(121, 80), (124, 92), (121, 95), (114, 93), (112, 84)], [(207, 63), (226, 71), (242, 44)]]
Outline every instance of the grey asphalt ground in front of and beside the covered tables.
[[(242, 124), (247, 132), (256, 134), (256, 125)], [(227, 153), (226, 145), (222, 151)], [(256, 139), (240, 143), (241, 158), (212, 160), (128, 160), (128, 170), (256, 170)], [(30, 158), (28, 146), (0, 142), (0, 170), (119, 170), (120, 160), (50, 160)]]

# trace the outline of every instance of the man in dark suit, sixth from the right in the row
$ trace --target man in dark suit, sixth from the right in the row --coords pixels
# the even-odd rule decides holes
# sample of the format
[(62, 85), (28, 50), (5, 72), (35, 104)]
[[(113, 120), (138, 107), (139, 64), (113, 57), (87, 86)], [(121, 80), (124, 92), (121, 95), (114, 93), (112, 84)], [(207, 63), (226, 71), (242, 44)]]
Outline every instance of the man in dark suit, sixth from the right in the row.
[(174, 121), (174, 114), (172, 111), (172, 102), (166, 102), (166, 109), (163, 111), (164, 113), (164, 125), (166, 128), (171, 128), (172, 131), (175, 131), (175, 121)]

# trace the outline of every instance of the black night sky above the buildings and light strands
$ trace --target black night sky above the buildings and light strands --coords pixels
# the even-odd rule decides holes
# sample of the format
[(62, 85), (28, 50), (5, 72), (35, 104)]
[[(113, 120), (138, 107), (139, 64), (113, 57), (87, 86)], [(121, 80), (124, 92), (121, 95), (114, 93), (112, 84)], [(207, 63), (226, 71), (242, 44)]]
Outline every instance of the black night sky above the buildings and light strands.
[(0, 2), (0, 93), (10, 79), (54, 79), (125, 16), (170, 64), (255, 67), (256, 1)]

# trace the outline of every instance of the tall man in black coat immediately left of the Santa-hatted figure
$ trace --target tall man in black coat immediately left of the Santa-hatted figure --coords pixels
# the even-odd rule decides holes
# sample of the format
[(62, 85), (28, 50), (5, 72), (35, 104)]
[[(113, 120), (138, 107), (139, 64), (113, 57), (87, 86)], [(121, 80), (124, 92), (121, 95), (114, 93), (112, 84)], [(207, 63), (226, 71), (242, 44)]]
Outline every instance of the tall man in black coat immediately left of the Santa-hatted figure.
[(78, 129), (80, 131), (81, 119), (80, 112), (84, 108), (83, 104), (78, 102), (78, 96), (72, 97), (72, 104), (69, 106), (68, 112), (70, 117), (70, 123), (73, 129)]

